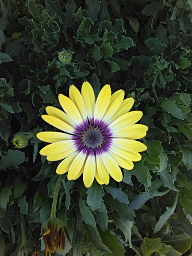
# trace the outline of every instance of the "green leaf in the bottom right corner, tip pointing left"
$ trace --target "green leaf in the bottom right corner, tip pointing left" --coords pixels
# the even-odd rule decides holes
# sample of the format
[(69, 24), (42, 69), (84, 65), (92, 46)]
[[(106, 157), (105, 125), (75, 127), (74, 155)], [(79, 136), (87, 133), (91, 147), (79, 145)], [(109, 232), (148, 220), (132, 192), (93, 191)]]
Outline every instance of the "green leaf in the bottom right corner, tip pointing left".
[(187, 234), (163, 237), (163, 243), (171, 245), (176, 251), (185, 253), (191, 248), (192, 238)]

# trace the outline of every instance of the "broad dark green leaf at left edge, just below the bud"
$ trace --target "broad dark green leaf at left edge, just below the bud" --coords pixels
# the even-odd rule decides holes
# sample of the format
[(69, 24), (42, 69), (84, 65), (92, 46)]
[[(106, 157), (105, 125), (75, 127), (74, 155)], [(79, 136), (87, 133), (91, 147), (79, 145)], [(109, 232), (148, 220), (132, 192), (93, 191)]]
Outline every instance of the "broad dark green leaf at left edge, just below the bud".
[(9, 149), (6, 155), (1, 155), (0, 169), (6, 170), (11, 166), (20, 165), (25, 160), (25, 153), (19, 150)]

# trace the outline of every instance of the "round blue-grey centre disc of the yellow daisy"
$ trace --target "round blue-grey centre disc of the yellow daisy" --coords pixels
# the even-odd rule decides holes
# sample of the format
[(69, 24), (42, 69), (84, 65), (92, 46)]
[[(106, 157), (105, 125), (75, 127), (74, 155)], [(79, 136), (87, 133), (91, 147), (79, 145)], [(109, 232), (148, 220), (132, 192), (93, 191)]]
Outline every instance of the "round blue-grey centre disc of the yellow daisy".
[(88, 148), (99, 147), (103, 142), (102, 132), (98, 128), (90, 127), (83, 133), (82, 142)]

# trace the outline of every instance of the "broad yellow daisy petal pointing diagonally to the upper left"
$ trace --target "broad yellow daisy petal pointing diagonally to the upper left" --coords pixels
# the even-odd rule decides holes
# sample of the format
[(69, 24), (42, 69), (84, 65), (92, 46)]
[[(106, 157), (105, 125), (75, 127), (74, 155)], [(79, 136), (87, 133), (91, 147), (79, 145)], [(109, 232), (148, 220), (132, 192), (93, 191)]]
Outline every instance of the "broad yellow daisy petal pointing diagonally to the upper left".
[(75, 103), (72, 102), (67, 96), (59, 94), (59, 103), (67, 115), (74, 121), (75, 124), (81, 124), (83, 122), (82, 117), (79, 113)]

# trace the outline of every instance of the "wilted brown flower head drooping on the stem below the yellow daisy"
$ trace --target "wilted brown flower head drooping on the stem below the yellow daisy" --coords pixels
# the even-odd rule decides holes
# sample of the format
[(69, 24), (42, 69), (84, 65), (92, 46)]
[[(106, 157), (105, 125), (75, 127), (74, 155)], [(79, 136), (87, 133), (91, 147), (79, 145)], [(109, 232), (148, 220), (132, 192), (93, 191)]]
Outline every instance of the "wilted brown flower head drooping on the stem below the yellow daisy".
[(65, 229), (63, 222), (60, 219), (48, 219), (42, 226), (41, 231), (45, 243), (46, 256), (48, 253), (49, 256), (51, 256), (54, 251), (58, 251), (58, 248), (60, 251), (64, 251), (65, 236), (67, 237), (69, 245), (72, 247), (67, 230)]

